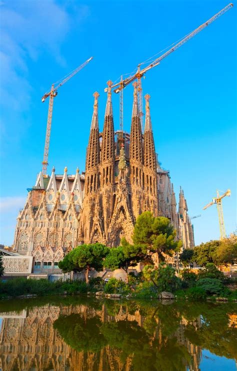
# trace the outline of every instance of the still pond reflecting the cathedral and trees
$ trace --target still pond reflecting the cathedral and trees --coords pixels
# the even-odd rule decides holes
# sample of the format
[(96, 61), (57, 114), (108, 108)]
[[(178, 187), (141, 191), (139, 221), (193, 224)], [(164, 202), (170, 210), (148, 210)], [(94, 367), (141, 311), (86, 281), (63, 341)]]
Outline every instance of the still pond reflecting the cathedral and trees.
[(1, 370), (235, 370), (237, 305), (51, 297), (0, 302)]

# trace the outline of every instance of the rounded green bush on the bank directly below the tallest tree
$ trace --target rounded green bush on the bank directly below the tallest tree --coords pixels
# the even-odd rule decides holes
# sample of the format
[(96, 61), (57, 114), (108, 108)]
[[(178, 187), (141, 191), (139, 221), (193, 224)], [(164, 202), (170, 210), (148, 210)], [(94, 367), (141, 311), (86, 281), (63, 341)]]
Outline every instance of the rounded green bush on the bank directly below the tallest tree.
[(158, 268), (153, 265), (145, 265), (142, 270), (143, 276), (147, 281), (151, 281), (158, 292), (174, 291), (180, 288), (181, 280), (175, 276), (175, 269), (160, 263)]

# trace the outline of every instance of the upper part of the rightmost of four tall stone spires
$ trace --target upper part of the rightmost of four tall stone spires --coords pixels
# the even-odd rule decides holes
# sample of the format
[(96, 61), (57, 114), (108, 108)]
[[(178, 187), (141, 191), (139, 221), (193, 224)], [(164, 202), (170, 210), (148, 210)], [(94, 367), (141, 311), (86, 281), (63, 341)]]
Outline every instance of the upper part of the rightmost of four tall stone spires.
[(146, 94), (144, 98), (145, 98), (144, 166), (156, 172), (156, 156), (150, 119), (150, 106), (149, 106), (150, 96)]

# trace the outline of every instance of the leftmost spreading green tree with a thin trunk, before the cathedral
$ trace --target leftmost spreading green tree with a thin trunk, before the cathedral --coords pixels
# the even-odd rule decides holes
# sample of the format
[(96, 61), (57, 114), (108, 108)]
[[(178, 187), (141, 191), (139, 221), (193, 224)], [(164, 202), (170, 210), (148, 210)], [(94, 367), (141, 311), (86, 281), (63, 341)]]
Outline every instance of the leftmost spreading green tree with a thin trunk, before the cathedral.
[(70, 251), (58, 266), (64, 272), (76, 270), (84, 271), (85, 282), (89, 282), (90, 269), (100, 271), (103, 269), (103, 259), (108, 254), (109, 248), (101, 243), (83, 244)]

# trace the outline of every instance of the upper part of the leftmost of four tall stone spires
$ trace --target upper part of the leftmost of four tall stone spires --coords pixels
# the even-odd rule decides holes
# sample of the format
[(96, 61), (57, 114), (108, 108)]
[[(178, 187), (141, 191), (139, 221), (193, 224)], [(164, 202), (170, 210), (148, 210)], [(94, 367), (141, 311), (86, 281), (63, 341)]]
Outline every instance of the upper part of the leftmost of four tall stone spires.
[(89, 143), (86, 152), (85, 163), (85, 195), (96, 192), (99, 187), (99, 129), (98, 129), (98, 97), (95, 92), (94, 108), (89, 133)]

